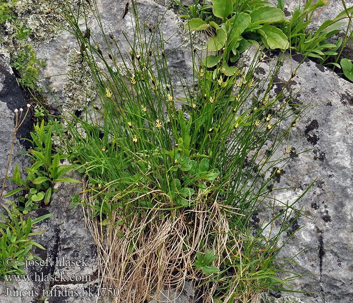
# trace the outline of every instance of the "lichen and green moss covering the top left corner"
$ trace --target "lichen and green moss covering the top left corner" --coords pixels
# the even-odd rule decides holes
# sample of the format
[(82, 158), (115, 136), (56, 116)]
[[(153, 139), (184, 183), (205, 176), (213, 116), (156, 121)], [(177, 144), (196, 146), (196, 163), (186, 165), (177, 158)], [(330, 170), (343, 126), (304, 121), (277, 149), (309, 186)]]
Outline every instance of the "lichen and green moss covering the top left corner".
[[(60, 1), (5, 0), (0, 3), (0, 54), (10, 58), (10, 64), (19, 71), (19, 82), (34, 89), (39, 68), (43, 65), (36, 58), (32, 45), (48, 42), (60, 35), (67, 25), (66, 19), (57, 12)], [(77, 13), (81, 0), (72, 0), (72, 11)], [(87, 3), (81, 3), (81, 11), (90, 14)], [(81, 14), (81, 23), (85, 18)], [(89, 16), (87, 16), (88, 18)]]

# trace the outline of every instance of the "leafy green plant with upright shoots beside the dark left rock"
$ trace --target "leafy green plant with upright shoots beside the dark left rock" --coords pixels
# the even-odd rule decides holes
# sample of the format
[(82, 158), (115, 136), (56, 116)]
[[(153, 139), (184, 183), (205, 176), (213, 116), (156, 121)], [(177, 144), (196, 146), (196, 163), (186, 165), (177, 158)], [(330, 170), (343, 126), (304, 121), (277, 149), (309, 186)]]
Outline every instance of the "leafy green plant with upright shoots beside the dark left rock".
[(51, 132), (52, 125), (44, 126), (44, 120), (41, 124), (37, 123), (34, 126), (34, 132), (31, 132), (32, 145), (34, 149), (30, 150), (29, 156), (33, 159), (33, 165), (25, 171), (27, 176), (25, 180), (20, 176), (18, 166), (16, 165), (14, 177), (9, 178), (20, 187), (7, 193), (5, 197), (14, 195), (17, 192), (24, 190), (26, 194), (19, 197), (19, 202), (24, 206), (19, 209), (24, 214), (27, 214), (33, 209), (37, 209), (38, 205), (43, 201), (44, 205), (48, 205), (55, 182), (80, 182), (75, 179), (63, 177), (66, 173), (74, 169), (73, 166), (60, 165), (60, 160), (67, 158), (67, 155), (61, 154), (58, 151), (52, 155), (52, 140)]

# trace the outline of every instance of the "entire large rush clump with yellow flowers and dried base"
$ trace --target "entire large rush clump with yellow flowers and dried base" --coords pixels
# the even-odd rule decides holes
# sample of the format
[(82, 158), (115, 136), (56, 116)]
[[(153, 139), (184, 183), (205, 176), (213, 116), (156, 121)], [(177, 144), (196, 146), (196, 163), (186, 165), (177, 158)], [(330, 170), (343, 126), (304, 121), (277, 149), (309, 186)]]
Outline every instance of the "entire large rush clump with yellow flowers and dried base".
[[(271, 93), (280, 61), (261, 79), (260, 52), (231, 76), (221, 62), (200, 67), (194, 54), (194, 83), (185, 83), (181, 96), (169, 74), (161, 19), (140, 20), (132, 2), (134, 40), (127, 39), (125, 54), (112, 32), (101, 27), (87, 37), (70, 6), (62, 9), (100, 100), (81, 118), (63, 117), (70, 138), (62, 140), (84, 173), (84, 196), (75, 202), (85, 207), (97, 243), (99, 275), (105, 286), (121, 289), (113, 301), (144, 302), (188, 279), (205, 302), (249, 302), (262, 290), (289, 287), (277, 254), (289, 217), (300, 214), (298, 199), (286, 205), (270, 192), (291, 158), (283, 150), (273, 159), (294, 125), (284, 124), (303, 109), (288, 106), (284, 88)], [(101, 26), (97, 7), (92, 11)], [(272, 217), (256, 228), (250, 219), (261, 209)], [(276, 221), (276, 233), (265, 233)]]

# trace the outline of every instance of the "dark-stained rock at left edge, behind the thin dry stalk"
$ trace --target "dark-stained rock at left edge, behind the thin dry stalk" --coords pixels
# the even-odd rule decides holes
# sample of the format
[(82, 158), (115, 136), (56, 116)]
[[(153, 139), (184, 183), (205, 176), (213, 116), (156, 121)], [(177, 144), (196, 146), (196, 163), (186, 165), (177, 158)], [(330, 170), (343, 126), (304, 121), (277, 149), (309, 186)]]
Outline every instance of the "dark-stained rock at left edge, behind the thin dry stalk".
[[(0, 55), (0, 146), (3, 148), (0, 164), (0, 191), (3, 187), (16, 123), (14, 110), (20, 110), (21, 108), (24, 110), (23, 113), (25, 113), (27, 110), (25, 97), (10, 67), (9, 59)], [(18, 112), (18, 114), (20, 114), (20, 112)], [(30, 130), (33, 125), (31, 117), (32, 114), (29, 112), (22, 126), (16, 133), (8, 176), (13, 175), (16, 165), (19, 166), (21, 175), (23, 175), (23, 170), (29, 166), (28, 157), (19, 153), (25, 151), (25, 149), (30, 146), (30, 142), (24, 139), (30, 138)], [(7, 180), (4, 194), (15, 188), (17, 188), (17, 185)], [(4, 202), (8, 199), (9, 198), (1, 199), (0, 201)]]

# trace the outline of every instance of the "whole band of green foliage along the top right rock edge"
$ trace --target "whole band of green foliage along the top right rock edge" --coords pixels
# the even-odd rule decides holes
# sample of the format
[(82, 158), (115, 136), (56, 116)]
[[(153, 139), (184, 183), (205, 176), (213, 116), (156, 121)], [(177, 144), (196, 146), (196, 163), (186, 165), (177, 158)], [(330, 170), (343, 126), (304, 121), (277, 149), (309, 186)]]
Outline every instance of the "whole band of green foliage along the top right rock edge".
[[(305, 7), (296, 7), (291, 19), (287, 20), (283, 14), (284, 1), (279, 1), (277, 8), (274, 8), (265, 1), (234, 3), (231, 0), (213, 0), (213, 17), (208, 16), (204, 22), (194, 17), (186, 23), (185, 28), (198, 31), (215, 29), (214, 36), (207, 43), (207, 50), (218, 53), (216, 57), (219, 57), (219, 60), (222, 58), (223, 62), (228, 64), (236, 62), (239, 54), (244, 52), (250, 43), (262, 41), (268, 49), (285, 50), (290, 47), (305, 56), (318, 58), (321, 64), (329, 57), (335, 56), (335, 62), (327, 64), (339, 68), (337, 49), (342, 43), (342, 38), (336, 43), (329, 43), (327, 39), (340, 31), (339, 27), (345, 24), (342, 19), (349, 18), (350, 24), (349, 14), (353, 8), (346, 9), (342, 2), (345, 10), (334, 20), (327, 20), (317, 30), (308, 32), (314, 11), (326, 4), (325, 1), (315, 4), (312, 2), (307, 1)], [(344, 45), (346, 40), (347, 33)], [(209, 56), (208, 59), (210, 62), (207, 67), (216, 65), (212, 57)], [(226, 65), (223, 64), (223, 67)]]

